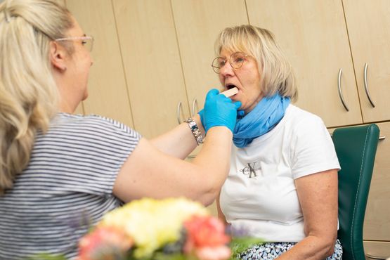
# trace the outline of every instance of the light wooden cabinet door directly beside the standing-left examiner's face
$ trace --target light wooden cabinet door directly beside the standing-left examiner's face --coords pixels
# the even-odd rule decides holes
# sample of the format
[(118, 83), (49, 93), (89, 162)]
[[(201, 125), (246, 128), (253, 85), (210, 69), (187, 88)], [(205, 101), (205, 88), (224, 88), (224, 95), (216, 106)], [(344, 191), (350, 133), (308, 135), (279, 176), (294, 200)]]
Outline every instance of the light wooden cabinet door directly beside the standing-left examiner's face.
[(95, 39), (84, 112), (117, 119), (133, 127), (111, 1), (67, 0), (66, 5), (84, 32)]

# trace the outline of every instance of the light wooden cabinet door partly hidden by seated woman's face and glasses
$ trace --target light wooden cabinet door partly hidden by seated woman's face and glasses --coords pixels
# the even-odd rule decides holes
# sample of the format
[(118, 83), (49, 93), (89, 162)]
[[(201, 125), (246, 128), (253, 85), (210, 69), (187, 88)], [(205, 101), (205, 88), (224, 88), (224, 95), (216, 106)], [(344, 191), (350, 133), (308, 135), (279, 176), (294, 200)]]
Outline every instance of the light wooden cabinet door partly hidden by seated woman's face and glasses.
[[(225, 27), (248, 23), (244, 0), (172, 0), (191, 113), (203, 108), (209, 89), (221, 89), (212, 70), (214, 42)], [(196, 102), (196, 103), (195, 103)]]

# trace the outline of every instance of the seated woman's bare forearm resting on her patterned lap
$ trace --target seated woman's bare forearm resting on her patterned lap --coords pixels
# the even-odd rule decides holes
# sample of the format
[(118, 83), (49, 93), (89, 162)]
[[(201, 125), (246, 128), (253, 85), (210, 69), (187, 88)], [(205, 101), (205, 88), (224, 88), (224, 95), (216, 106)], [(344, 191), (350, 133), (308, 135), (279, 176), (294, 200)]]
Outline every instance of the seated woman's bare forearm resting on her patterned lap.
[(288, 250), (278, 260), (323, 260), (330, 256), (334, 250), (334, 242), (332, 240), (318, 238), (313, 235), (309, 235), (297, 245), (294, 245), (292, 249)]

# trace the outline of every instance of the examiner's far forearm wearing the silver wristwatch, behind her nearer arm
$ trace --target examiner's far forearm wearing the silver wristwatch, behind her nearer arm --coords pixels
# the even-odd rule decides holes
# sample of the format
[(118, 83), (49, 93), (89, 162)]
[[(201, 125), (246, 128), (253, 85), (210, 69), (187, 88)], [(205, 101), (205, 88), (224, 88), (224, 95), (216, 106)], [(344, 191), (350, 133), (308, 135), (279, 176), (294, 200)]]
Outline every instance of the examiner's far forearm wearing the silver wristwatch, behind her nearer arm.
[[(195, 115), (193, 119), (204, 137), (199, 115)], [(153, 138), (150, 142), (160, 151), (181, 159), (186, 158), (197, 147), (195, 137), (187, 123), (179, 124), (171, 131)]]

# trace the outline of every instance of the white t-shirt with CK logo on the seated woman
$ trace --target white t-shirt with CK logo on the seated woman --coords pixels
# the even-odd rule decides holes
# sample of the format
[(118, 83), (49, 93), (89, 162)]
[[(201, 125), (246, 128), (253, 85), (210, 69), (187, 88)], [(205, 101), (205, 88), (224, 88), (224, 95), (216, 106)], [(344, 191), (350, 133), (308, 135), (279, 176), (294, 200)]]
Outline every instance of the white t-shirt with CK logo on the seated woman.
[(320, 117), (289, 105), (267, 134), (245, 148), (233, 145), (220, 205), (236, 230), (272, 242), (305, 238), (294, 180), (340, 169), (330, 134)]

